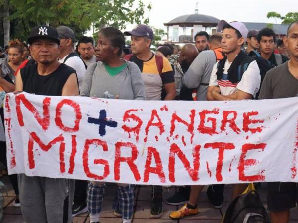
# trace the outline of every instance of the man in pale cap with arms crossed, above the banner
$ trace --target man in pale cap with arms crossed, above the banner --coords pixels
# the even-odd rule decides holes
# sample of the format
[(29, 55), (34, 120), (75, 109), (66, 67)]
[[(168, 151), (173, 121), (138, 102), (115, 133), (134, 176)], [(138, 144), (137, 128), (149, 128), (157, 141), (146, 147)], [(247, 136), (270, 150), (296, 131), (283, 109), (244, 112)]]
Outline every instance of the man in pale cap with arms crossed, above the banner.
[[(207, 100), (252, 99), (260, 89), (261, 75), (257, 62), (241, 50), (248, 30), (241, 22), (224, 20), (219, 22), (218, 28), (223, 31), (222, 48), (226, 56), (213, 67)], [(241, 194), (246, 186), (235, 184), (232, 198)]]

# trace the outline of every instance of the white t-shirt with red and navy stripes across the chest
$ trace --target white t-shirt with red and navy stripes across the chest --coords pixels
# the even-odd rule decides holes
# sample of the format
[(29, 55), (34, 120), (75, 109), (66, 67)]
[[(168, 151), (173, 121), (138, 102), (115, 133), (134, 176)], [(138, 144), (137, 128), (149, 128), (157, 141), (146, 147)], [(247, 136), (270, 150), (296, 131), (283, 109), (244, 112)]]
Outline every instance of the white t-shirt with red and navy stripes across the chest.
[(253, 97), (256, 96), (256, 93), (260, 89), (261, 75), (260, 69), (256, 61), (252, 61), (247, 70), (243, 73), (241, 81), (238, 83), (232, 83), (227, 79), (227, 71), (231, 66), (231, 62), (228, 60), (224, 63), (224, 73), (221, 80), (217, 79), (217, 65), (218, 62), (213, 66), (213, 70), (210, 76), (209, 86), (219, 86), (221, 89), (221, 94), (224, 96), (231, 95), (239, 89), (248, 94), (251, 94)]

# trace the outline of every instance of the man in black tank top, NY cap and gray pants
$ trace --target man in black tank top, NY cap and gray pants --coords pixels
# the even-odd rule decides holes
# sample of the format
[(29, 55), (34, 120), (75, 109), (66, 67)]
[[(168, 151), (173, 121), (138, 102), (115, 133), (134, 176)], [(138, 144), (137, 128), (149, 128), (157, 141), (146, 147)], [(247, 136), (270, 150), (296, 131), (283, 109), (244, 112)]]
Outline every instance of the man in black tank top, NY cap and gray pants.
[[(16, 91), (49, 96), (78, 95), (73, 68), (57, 61), (57, 30), (37, 26), (28, 38), (36, 64), (22, 68), (16, 76)], [(26, 223), (71, 223), (74, 180), (18, 175), (21, 210)]]

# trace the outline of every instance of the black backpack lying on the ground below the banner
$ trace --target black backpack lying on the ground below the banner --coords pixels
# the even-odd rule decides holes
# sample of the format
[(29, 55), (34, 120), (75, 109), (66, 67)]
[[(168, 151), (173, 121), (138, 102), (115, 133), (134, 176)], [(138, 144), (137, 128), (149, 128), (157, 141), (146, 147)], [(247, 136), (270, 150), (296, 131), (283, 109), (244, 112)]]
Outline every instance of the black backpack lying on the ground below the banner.
[(270, 223), (257, 191), (236, 197), (228, 206), (223, 223)]

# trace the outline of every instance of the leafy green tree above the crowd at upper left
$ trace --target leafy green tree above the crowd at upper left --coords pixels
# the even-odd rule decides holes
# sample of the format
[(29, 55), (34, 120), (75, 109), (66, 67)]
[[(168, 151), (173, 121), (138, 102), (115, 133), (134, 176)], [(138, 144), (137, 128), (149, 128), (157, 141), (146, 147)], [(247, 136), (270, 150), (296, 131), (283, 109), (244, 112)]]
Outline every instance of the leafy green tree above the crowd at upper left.
[[(0, 0), (0, 2), (8, 0)], [(151, 5), (141, 0), (9, 0), (12, 38), (27, 39), (30, 29), (49, 24), (67, 25), (77, 37), (83, 35), (91, 24), (125, 28), (128, 23), (140, 23), (144, 11)], [(135, 8), (134, 6), (137, 7)], [(148, 18), (143, 21), (148, 23)]]

